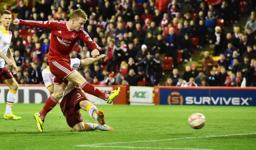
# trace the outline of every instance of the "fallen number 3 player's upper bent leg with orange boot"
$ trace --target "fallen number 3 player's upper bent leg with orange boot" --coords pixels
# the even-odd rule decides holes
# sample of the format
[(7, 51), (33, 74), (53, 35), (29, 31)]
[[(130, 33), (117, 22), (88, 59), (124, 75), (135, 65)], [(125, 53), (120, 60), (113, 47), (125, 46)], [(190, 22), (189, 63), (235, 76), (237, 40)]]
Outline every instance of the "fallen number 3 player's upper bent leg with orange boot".
[(98, 108), (89, 100), (82, 100), (79, 103), (79, 106), (82, 110), (88, 112), (90, 117), (96, 119), (100, 125), (105, 124), (104, 112), (102, 110), (98, 110)]

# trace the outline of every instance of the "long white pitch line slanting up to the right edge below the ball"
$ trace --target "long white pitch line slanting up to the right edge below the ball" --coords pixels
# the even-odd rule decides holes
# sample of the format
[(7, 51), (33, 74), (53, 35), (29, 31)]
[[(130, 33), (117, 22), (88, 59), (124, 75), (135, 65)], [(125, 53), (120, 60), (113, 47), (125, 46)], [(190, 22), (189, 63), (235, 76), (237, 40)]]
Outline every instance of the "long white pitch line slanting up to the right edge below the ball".
[(160, 141), (172, 141), (172, 140), (188, 140), (188, 139), (197, 139), (197, 138), (219, 138), (219, 137), (228, 137), (228, 136), (244, 136), (244, 135), (256, 135), (256, 133), (244, 133), (244, 134), (226, 134), (226, 135), (214, 135), (214, 136), (198, 136), (198, 137), (185, 137), (185, 138), (167, 138), (161, 140), (141, 140), (141, 141), (127, 141), (127, 142), (111, 142), (111, 143), (98, 143), (98, 144), (81, 144), (75, 146), (98, 146), (98, 145), (107, 145), (107, 144), (126, 144), (126, 143), (140, 143), (140, 142), (160, 142)]

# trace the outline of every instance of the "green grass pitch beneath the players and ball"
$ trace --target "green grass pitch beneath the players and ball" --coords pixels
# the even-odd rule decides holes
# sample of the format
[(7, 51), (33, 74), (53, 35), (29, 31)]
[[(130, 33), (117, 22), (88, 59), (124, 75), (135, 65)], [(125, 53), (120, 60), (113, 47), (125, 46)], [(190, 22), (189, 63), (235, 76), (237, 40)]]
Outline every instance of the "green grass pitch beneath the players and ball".
[[(114, 132), (72, 132), (57, 105), (40, 133), (33, 115), (42, 107), (14, 104), (21, 120), (0, 116), (0, 150), (256, 150), (256, 107), (98, 105)], [(188, 125), (194, 112), (206, 116), (200, 130)]]

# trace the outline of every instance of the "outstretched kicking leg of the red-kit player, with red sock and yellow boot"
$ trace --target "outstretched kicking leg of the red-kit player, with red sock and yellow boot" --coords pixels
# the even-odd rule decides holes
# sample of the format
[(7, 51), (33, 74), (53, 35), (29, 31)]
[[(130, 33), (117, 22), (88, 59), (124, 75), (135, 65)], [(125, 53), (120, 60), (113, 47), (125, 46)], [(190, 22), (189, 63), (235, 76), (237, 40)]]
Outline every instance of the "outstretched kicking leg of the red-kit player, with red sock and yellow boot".
[(106, 100), (108, 104), (111, 104), (112, 101), (119, 95), (120, 87), (118, 87), (116, 90), (113, 90), (110, 92), (110, 94), (106, 94), (104, 92), (101, 92), (98, 88), (95, 88), (92, 84), (88, 83), (79, 72), (74, 71), (70, 75), (66, 77), (67, 80), (77, 84), (88, 94), (92, 94), (94, 96), (97, 96), (99, 98), (102, 98), (103, 100)]

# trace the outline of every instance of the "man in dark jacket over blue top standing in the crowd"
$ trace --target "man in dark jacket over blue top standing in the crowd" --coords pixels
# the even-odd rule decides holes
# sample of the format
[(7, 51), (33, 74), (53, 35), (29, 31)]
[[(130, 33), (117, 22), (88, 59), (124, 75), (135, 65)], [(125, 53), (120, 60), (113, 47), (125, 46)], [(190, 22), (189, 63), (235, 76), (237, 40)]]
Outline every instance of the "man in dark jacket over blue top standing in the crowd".
[(166, 34), (164, 37), (164, 44), (166, 44), (166, 56), (172, 56), (174, 67), (176, 67), (179, 38), (174, 33), (174, 28), (169, 28), (169, 34)]

